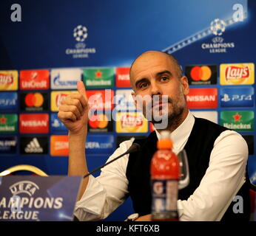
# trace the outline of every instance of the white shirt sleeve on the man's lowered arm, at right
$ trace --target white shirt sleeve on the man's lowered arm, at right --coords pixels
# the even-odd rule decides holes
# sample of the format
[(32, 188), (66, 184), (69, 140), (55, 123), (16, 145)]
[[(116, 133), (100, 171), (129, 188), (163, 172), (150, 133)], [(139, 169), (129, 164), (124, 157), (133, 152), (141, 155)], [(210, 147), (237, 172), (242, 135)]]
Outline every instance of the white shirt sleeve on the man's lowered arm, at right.
[(209, 167), (199, 187), (186, 200), (178, 200), (181, 221), (220, 221), (245, 182), (248, 147), (235, 131), (215, 140)]

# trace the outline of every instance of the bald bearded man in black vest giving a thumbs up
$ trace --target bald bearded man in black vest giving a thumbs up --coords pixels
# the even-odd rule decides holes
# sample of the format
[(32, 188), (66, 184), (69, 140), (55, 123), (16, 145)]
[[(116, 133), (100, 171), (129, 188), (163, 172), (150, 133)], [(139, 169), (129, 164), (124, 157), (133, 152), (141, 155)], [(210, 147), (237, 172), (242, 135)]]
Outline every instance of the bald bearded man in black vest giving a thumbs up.
[[(142, 53), (132, 63), (130, 81), (133, 96), (149, 95), (152, 99), (168, 96), (167, 103), (161, 104), (160, 99), (158, 107), (167, 109), (165, 129), (172, 132), (173, 151), (177, 154), (185, 149), (189, 162), (189, 185), (178, 192), (180, 221), (249, 221), (248, 147), (243, 137), (191, 114), (186, 105), (188, 80), (172, 55), (158, 51)], [(78, 94), (67, 96), (58, 112), (69, 130), (70, 176), (88, 173), (84, 152), (88, 111), (84, 83), (78, 82)], [(153, 106), (151, 111), (154, 112)], [(104, 167), (97, 178), (84, 178), (74, 212), (79, 221), (107, 218), (129, 195), (139, 215), (136, 221), (150, 221), (149, 166), (160, 131), (150, 133), (137, 153), (127, 154)], [(131, 145), (130, 140), (122, 142), (108, 161), (126, 152)], [(233, 207), (236, 195), (243, 199), (240, 212), (235, 212)]]

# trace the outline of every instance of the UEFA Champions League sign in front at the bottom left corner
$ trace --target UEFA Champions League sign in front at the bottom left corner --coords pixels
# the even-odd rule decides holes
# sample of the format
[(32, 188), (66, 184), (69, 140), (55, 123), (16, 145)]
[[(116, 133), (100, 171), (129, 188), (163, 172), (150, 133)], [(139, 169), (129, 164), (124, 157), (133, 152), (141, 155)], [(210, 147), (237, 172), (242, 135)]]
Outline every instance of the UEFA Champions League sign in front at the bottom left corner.
[(81, 176), (4, 176), (0, 221), (73, 221)]

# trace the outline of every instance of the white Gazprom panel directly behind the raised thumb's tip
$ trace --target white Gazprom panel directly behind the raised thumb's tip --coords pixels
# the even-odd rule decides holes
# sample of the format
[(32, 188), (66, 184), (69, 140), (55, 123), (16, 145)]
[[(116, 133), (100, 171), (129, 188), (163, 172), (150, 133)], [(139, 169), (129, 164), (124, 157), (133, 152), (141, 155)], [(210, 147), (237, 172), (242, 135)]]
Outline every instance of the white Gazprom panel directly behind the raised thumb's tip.
[(81, 81), (81, 69), (52, 69), (50, 72), (51, 89), (76, 89)]

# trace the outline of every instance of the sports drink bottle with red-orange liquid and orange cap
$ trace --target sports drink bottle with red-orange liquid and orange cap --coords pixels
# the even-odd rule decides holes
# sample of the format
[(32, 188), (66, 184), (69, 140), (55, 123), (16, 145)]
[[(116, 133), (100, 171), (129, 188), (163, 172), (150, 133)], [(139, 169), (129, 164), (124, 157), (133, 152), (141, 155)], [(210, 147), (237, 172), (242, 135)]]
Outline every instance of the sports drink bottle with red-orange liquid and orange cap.
[(152, 221), (178, 221), (178, 156), (172, 152), (169, 131), (162, 131), (151, 161)]

